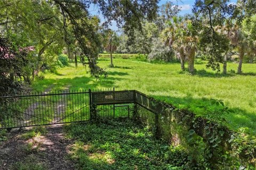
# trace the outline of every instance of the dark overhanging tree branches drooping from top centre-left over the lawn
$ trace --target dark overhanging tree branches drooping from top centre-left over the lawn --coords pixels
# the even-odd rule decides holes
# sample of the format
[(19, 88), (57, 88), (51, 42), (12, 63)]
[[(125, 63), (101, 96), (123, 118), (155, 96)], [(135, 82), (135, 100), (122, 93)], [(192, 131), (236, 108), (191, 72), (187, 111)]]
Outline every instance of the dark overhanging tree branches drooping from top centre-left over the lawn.
[(89, 64), (91, 74), (95, 77), (106, 75), (106, 72), (97, 65), (97, 56), (100, 47), (99, 19), (91, 16), (89, 6), (98, 5), (99, 10), (107, 20), (104, 25), (110, 21), (116, 21), (119, 27), (122, 27), (129, 37), (128, 44), (134, 40), (134, 30), (142, 28), (141, 22), (145, 19), (152, 20), (156, 16), (157, 1), (75, 1), (75, 0), (53, 0), (60, 8), (63, 23), (66, 27), (67, 21), (72, 25), (73, 33), (83, 51), (81, 57), (82, 63)]

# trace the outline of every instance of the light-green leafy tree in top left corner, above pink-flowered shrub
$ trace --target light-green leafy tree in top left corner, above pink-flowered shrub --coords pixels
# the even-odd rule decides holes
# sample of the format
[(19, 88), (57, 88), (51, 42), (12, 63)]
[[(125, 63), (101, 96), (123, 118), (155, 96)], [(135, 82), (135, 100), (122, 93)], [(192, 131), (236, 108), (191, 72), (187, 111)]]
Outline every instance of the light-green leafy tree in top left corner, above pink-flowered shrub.
[(1, 1), (0, 5), (3, 36), (19, 47), (35, 47), (37, 55), (29, 60), (31, 75), (54, 63), (63, 47), (57, 8), (46, 1)]

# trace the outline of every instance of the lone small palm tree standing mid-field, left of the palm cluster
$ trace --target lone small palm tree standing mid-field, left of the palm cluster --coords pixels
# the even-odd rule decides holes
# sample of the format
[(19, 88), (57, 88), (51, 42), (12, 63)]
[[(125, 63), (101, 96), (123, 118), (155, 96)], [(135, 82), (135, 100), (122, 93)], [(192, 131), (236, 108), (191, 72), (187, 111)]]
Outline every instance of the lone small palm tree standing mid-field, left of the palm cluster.
[(110, 67), (114, 67), (112, 53), (114, 53), (117, 50), (118, 45), (119, 45), (119, 38), (116, 32), (109, 30), (106, 36), (105, 50), (108, 53), (110, 53), (110, 65), (109, 65)]

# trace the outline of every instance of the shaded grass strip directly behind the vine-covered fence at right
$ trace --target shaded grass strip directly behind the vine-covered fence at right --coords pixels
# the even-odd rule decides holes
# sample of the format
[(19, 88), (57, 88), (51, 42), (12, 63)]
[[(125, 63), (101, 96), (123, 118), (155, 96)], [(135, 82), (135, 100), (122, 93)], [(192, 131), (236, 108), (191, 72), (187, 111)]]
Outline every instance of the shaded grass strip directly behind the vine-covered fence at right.
[[(210, 108), (214, 108), (211, 106), (211, 100), (206, 98), (193, 98), (191, 96), (187, 96), (184, 98), (172, 97), (172, 96), (153, 96), (159, 100), (164, 100), (166, 103), (173, 104), (174, 106), (180, 108), (188, 108), (193, 109), (196, 113), (200, 115), (206, 114), (203, 108), (199, 108), (198, 106), (208, 106)], [(225, 101), (224, 101), (225, 103)], [(235, 113), (229, 113), (225, 115), (228, 120), (227, 126), (232, 130), (237, 130), (238, 128), (247, 128), (249, 129), (249, 133), (256, 134), (256, 114), (245, 111), (244, 109), (238, 107), (230, 107), (233, 109)]]

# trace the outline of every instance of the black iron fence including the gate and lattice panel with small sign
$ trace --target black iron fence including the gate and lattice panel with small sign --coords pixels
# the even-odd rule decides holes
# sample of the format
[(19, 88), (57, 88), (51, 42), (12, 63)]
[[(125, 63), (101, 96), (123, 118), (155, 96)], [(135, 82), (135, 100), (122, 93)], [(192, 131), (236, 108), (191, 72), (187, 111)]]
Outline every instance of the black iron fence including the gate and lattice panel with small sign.
[(137, 107), (153, 113), (163, 106), (137, 90), (68, 90), (0, 97), (0, 129), (131, 117)]

